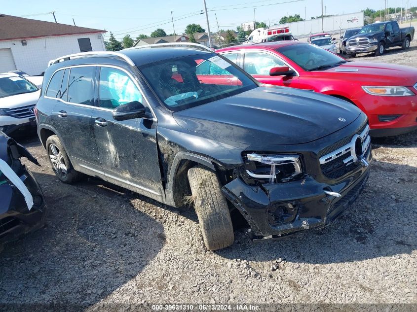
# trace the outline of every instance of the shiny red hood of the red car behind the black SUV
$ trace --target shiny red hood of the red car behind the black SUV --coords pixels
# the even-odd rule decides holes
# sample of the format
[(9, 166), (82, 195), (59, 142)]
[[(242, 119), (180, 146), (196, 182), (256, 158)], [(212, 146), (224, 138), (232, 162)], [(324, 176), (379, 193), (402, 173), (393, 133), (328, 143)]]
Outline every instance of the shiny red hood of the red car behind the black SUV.
[[(353, 61), (321, 72), (354, 75), (355, 80), (371, 86), (414, 86), (417, 82), (417, 68), (388, 63)], [(343, 78), (338, 76), (338, 79)]]

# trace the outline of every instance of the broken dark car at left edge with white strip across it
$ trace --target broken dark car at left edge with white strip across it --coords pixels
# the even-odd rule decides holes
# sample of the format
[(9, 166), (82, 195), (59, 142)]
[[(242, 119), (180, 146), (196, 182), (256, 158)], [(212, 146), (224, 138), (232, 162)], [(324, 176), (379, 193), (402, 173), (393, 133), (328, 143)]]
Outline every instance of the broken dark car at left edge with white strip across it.
[[(38, 164), (37, 160), (20, 144), (0, 132), (0, 149), (2, 159), (23, 181), (32, 195), (34, 205), (28, 209), (21, 191), (7, 178), (0, 174), (0, 247), (18, 237), (35, 231), (45, 224), (46, 204), (42, 191), (33, 174), (22, 165), (20, 157), (26, 157)], [(7, 156), (5, 156), (7, 155)]]

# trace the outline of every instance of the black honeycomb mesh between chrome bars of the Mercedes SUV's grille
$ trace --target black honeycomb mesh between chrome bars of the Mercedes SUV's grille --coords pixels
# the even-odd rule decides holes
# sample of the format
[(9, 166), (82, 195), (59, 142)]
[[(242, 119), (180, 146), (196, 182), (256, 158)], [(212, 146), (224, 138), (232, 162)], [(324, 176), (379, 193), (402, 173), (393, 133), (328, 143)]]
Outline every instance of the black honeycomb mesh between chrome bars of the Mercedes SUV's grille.
[[(365, 123), (361, 128), (359, 128), (355, 133), (337, 141), (336, 143), (327, 146), (326, 148), (322, 149), (319, 153), (319, 157), (323, 156), (323, 155), (327, 155), (339, 148), (341, 148), (342, 146), (348, 144), (354, 135), (360, 135), (366, 128), (367, 124)], [(368, 153), (371, 149), (368, 148), (368, 150), (365, 153), (365, 157), (368, 156)], [(346, 166), (346, 164), (343, 162), (344, 159), (346, 159), (346, 157), (348, 157), (348, 155), (350, 154), (345, 154), (346, 156), (344, 157), (338, 157), (335, 158), (325, 164), (321, 164), (320, 165), (320, 170), (323, 173), (324, 176), (328, 177), (329, 179), (337, 179), (341, 176), (343, 176), (346, 173), (349, 173), (353, 170), (355, 170), (356, 168), (358, 168), (360, 165), (357, 163), (351, 163), (349, 165)]]

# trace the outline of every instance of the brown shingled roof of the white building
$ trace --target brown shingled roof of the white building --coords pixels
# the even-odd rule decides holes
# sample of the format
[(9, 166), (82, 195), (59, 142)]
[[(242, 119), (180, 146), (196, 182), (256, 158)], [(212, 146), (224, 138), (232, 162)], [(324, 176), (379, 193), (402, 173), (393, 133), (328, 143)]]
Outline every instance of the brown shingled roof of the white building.
[(0, 41), (105, 32), (106, 31), (100, 29), (78, 27), (0, 14)]

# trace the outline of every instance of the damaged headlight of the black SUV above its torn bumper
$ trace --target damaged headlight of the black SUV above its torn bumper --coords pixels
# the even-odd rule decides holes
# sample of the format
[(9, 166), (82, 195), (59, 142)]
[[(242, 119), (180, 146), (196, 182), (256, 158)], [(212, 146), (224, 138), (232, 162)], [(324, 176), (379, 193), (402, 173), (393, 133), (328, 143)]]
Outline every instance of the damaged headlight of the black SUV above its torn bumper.
[(299, 155), (246, 155), (244, 175), (253, 182), (279, 183), (300, 177), (302, 173)]

